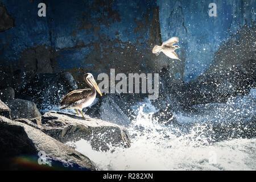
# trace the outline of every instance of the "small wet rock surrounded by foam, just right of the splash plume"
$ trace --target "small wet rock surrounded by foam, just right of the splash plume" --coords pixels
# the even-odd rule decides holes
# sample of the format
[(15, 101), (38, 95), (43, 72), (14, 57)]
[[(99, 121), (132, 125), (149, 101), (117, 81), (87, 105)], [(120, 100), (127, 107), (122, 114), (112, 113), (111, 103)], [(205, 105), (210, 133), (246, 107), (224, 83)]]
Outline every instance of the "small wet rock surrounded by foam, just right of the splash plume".
[(166, 109), (160, 109), (157, 113), (152, 115), (152, 118), (158, 119), (159, 123), (163, 123), (166, 126), (169, 125), (179, 125), (177, 119), (172, 114), (171, 107), (167, 107)]

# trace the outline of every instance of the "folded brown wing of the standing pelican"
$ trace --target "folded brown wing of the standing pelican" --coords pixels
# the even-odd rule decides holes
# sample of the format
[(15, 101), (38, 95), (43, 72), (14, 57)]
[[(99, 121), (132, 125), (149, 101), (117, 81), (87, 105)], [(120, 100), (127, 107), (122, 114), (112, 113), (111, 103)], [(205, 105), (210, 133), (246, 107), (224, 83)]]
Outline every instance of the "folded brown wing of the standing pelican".
[(81, 90), (73, 90), (65, 95), (60, 101), (60, 105), (69, 105), (73, 102), (79, 101), (83, 98), (86, 98), (92, 94), (91, 89), (81, 89)]

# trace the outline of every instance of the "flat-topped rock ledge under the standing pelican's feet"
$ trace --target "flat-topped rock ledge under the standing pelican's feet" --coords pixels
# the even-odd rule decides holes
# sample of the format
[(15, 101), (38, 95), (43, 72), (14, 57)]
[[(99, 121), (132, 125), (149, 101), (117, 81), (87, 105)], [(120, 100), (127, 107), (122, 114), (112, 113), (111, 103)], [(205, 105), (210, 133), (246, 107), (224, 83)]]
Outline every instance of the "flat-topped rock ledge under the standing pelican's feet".
[(126, 129), (100, 119), (84, 119), (75, 114), (49, 111), (41, 118), (15, 121), (36, 127), (62, 143), (85, 139), (94, 150), (99, 151), (107, 151), (109, 146), (130, 147), (130, 137)]

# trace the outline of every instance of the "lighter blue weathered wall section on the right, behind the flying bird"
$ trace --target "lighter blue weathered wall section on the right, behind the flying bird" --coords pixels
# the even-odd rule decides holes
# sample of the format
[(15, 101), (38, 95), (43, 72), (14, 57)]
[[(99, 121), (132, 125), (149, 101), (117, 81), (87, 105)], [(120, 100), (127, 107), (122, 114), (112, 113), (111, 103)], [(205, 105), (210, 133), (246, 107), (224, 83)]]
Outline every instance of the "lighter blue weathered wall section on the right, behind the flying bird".
[[(217, 16), (209, 16), (210, 3), (216, 3)], [(214, 54), (245, 25), (255, 26), (256, 1), (162, 1), (159, 19), (163, 41), (171, 36), (180, 38), (180, 59), (185, 61), (184, 81), (190, 81), (207, 71)], [(254, 32), (255, 35), (255, 32)], [(250, 39), (256, 41), (255, 36)], [(239, 39), (239, 38), (238, 38)], [(253, 41), (252, 41), (253, 42)], [(248, 43), (245, 49), (253, 44)], [(255, 47), (254, 47), (255, 49)], [(226, 52), (229, 53), (229, 52)], [(255, 57), (255, 52), (254, 52)], [(230, 57), (232, 59), (232, 57)], [(184, 67), (184, 63), (177, 63)], [(182, 77), (180, 73), (180, 77)]]

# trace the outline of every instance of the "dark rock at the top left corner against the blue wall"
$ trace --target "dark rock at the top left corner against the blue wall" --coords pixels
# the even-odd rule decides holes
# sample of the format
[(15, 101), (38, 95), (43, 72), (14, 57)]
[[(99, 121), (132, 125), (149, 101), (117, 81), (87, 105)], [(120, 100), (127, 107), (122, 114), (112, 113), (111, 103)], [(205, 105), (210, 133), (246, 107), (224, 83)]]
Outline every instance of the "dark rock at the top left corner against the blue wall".
[(5, 6), (0, 3), (0, 32), (14, 27), (14, 18), (7, 12)]

